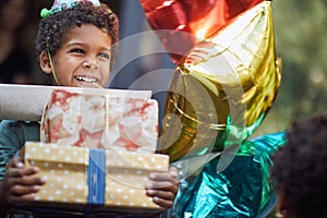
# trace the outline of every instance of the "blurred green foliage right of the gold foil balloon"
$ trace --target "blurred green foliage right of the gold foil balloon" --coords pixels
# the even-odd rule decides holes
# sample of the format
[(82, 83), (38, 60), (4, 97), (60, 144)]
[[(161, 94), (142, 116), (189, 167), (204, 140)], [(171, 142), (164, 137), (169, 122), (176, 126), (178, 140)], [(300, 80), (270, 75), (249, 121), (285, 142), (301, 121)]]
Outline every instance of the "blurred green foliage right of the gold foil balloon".
[(274, 0), (272, 12), (282, 82), (255, 135), (283, 131), (294, 119), (327, 110), (327, 1)]

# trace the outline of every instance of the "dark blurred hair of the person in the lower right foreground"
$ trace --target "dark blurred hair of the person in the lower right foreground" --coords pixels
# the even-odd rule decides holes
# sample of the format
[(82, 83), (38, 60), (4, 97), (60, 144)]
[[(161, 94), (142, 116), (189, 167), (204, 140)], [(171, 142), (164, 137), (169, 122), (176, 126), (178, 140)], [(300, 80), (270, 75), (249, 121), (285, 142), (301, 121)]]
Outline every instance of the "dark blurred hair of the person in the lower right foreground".
[(327, 217), (327, 112), (293, 123), (275, 157), (272, 178), (298, 217)]

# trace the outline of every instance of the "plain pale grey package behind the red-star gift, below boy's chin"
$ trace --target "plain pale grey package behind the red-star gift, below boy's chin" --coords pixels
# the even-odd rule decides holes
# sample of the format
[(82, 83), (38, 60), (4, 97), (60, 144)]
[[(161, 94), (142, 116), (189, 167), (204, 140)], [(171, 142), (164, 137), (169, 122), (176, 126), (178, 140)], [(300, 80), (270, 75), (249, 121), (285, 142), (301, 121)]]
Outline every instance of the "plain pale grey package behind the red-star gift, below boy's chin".
[(0, 120), (40, 121), (41, 114), (53, 89), (66, 89), (85, 94), (108, 94), (149, 99), (150, 90), (76, 88), (40, 85), (0, 84)]

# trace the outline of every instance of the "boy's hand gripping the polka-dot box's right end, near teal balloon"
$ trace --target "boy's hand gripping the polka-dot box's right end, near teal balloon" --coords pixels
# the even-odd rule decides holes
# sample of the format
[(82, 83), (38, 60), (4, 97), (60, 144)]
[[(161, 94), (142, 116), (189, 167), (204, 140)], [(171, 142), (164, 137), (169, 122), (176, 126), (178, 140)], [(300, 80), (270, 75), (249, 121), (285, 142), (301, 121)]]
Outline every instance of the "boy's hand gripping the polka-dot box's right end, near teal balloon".
[(153, 197), (154, 202), (161, 207), (171, 207), (178, 193), (177, 177), (178, 170), (174, 167), (170, 167), (168, 172), (150, 173), (149, 179), (153, 182), (145, 186), (146, 195)]

